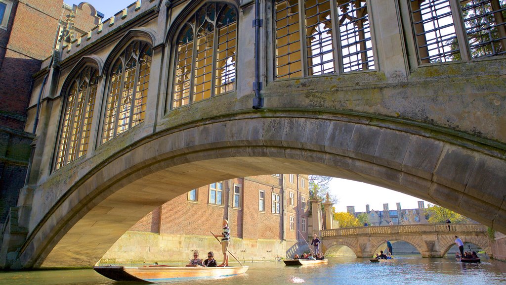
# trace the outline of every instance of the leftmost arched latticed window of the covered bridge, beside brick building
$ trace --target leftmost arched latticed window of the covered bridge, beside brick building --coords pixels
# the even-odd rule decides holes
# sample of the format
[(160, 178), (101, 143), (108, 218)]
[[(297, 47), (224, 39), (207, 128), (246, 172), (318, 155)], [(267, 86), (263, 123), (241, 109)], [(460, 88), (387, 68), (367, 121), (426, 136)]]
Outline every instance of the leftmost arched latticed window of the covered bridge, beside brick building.
[(67, 94), (56, 169), (86, 154), (97, 95), (98, 70), (85, 67), (72, 80)]

